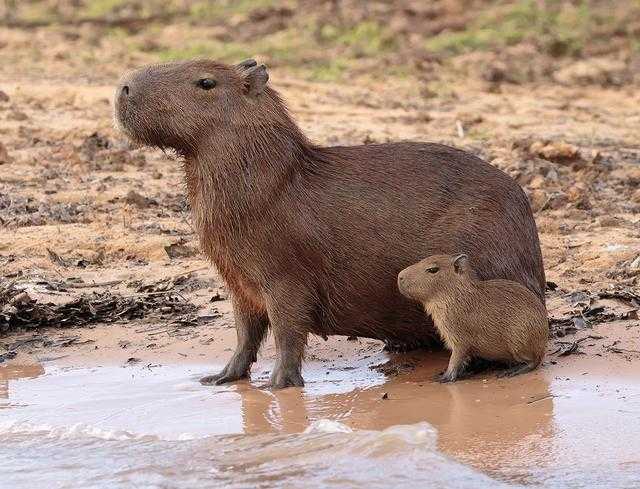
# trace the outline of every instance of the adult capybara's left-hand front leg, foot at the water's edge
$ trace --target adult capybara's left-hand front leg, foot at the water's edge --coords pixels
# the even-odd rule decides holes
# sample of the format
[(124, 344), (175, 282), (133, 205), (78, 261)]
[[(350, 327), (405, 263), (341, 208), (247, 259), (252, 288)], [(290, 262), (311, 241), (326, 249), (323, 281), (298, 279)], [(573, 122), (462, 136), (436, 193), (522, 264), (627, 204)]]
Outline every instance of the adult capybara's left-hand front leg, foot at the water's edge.
[(218, 374), (200, 379), (203, 385), (220, 385), (249, 376), (251, 364), (256, 361), (260, 345), (267, 334), (269, 320), (266, 313), (255, 313), (239, 301), (233, 300), (238, 343), (227, 366)]

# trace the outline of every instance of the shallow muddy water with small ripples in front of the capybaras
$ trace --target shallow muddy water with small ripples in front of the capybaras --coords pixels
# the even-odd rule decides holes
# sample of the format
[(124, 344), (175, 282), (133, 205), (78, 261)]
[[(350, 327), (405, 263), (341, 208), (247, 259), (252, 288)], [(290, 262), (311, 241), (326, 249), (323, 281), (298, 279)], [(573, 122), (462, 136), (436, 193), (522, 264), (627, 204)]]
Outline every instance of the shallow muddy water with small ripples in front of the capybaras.
[[(382, 356), (382, 354), (379, 354)], [(635, 365), (432, 383), (311, 362), (304, 389), (207, 388), (199, 364), (0, 368), (0, 487), (637, 487)]]

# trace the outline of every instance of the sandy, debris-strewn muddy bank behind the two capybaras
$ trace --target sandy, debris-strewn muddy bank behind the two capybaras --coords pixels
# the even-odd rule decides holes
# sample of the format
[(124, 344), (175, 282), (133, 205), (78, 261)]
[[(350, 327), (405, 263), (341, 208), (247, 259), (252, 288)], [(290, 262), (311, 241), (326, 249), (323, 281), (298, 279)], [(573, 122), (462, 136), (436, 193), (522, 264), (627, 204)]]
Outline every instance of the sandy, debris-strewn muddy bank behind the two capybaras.
[[(389, 25), (402, 42), (389, 48), (389, 33), (375, 30), (356, 41), (328, 41), (324, 56), (338, 53), (353, 66), (338, 71), (329, 66), (332, 76), (315, 76), (309, 66), (318, 61), (304, 51), (299, 58), (278, 57), (273, 49), (265, 47), (261, 54), (256, 47), (256, 36), (275, 42), (282, 29), (301, 25), (295, 5), (278, 9), (268, 3), (263, 10), (236, 12), (226, 23), (197, 22), (184, 13), (136, 22), (130, 19), (147, 13), (135, 10), (120, 12), (124, 17), (110, 13), (106, 23), (83, 17), (68, 22), (73, 12), (64, 8), (54, 9), (51, 19), (42, 14), (49, 11), (36, 18), (23, 9), (5, 22), (0, 29), (5, 60), (0, 64), (0, 358), (59, 355), (64, 348), (92, 344), (92, 335), (107, 335), (111, 347), (131, 352), (125, 355), (130, 362), (153, 363), (167, 345), (188, 355), (195, 343), (222, 342), (224, 348), (212, 352), (230, 355), (229, 302), (224, 284), (198, 251), (181, 162), (161, 151), (133, 148), (114, 128), (112, 98), (126, 69), (170, 57), (171, 49), (174, 57), (206, 53), (206, 46), (185, 47), (193, 47), (195, 38), (211, 36), (232, 45), (236, 31), (242, 49), (223, 51), (221, 57), (257, 49), (258, 58), (272, 65), (272, 86), (314, 141), (443, 142), (480, 155), (523, 186), (550, 282), (554, 338), (545, 368), (581, 353), (571, 336), (576, 331), (585, 337), (589, 328), (610, 321), (637, 330), (640, 64), (629, 36), (640, 17), (629, 13), (626, 30), (601, 34), (609, 36), (609, 44), (594, 38), (579, 53), (558, 55), (547, 38), (544, 44), (535, 36), (501, 49), (458, 52), (454, 45), (430, 51), (412, 41), (417, 24), (410, 19), (428, 17), (433, 35), (471, 32), (471, 14), (484, 12), (491, 2), (475, 3), (476, 10), (462, 17), (456, 2), (434, 2), (440, 10), (428, 15), (402, 10), (397, 2)], [(343, 8), (356, 9), (354, 18), (367, 26), (386, 15), (381, 4), (366, 11), (354, 3)], [(314, 18), (328, 22), (330, 7), (322, 5)], [(378, 46), (379, 52), (362, 50), (363, 45)], [(286, 49), (286, 39), (282, 46)], [(291, 44), (295, 49), (302, 50)], [(607, 341), (606, 328), (598, 331), (601, 338), (592, 339), (602, 345), (598, 355), (640, 357), (633, 335), (614, 343)], [(314, 341), (311, 358), (314, 348), (324, 347)], [(381, 345), (360, 341), (349, 348), (379, 351)], [(100, 354), (97, 346), (94, 350)]]

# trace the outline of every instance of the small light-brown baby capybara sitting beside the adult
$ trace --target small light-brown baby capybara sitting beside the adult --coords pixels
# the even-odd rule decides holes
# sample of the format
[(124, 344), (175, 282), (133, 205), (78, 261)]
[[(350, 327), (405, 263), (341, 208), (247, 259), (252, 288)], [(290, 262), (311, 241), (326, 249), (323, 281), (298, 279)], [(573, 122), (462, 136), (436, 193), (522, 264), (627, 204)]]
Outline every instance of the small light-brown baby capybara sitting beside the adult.
[(478, 280), (467, 255), (435, 255), (398, 274), (398, 289), (422, 304), (451, 350), (442, 382), (454, 382), (469, 359), (512, 366), (502, 375), (535, 369), (545, 354), (547, 311), (529, 289), (510, 280)]

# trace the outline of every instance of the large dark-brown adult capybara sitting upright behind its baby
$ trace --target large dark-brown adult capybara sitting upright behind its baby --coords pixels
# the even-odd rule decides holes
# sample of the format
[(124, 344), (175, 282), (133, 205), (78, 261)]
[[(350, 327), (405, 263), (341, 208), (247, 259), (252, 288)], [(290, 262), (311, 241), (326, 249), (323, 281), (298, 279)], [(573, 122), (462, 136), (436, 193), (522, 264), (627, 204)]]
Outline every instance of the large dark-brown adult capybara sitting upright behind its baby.
[(246, 377), (269, 326), (274, 387), (303, 384), (309, 333), (431, 342), (396, 276), (435, 253), (468, 252), (481, 278), (543, 299), (535, 222), (511, 178), (440, 144), (313, 144), (268, 78), (253, 60), (193, 60), (142, 68), (117, 88), (124, 132), (184, 159), (200, 245), (231, 292), (236, 352), (203, 383)]

